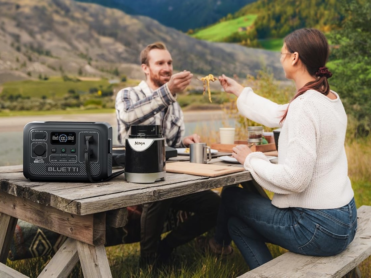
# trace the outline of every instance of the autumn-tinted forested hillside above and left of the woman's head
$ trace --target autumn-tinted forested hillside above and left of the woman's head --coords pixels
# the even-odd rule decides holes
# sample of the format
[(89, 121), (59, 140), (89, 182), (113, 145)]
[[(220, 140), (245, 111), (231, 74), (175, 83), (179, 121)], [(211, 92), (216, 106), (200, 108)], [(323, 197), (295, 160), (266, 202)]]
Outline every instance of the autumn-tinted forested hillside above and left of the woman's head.
[[(365, 0), (359, 1), (365, 3)], [(283, 38), (293, 30), (304, 27), (317, 28), (327, 33), (336, 29), (344, 20), (345, 13), (341, 8), (342, 4), (338, 0), (258, 0), (219, 20), (225, 25), (229, 22), (233, 25), (236, 19), (247, 15), (257, 16), (244, 32), (236, 30), (226, 34), (220, 41), (261, 47), (262, 40)]]

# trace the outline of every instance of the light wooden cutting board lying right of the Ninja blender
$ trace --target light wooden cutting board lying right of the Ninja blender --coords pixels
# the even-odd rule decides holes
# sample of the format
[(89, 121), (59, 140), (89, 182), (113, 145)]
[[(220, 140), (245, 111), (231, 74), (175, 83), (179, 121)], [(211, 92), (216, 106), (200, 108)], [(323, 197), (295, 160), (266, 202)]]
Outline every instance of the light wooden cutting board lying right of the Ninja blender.
[(190, 163), (183, 161), (166, 163), (166, 172), (190, 174), (196, 176), (216, 177), (240, 171), (245, 171), (245, 169), (243, 167)]

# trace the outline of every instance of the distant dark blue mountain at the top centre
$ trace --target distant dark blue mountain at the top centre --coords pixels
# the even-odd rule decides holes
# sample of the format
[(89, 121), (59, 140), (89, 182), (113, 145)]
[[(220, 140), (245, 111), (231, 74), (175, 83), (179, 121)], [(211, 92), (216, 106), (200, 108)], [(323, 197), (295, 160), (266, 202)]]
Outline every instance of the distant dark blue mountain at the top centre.
[(208, 26), (256, 0), (81, 0), (151, 17), (168, 27), (187, 32)]

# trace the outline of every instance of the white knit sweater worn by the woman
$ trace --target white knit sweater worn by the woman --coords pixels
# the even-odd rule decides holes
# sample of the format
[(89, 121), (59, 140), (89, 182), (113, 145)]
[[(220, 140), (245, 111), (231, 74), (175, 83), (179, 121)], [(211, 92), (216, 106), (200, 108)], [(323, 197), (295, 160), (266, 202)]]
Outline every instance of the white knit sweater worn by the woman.
[[(244, 168), (263, 188), (274, 192), (279, 208), (339, 208), (354, 196), (348, 178), (344, 140), (347, 115), (342, 102), (308, 90), (290, 103), (278, 142), (278, 164), (262, 152), (250, 153)], [(280, 127), (288, 104), (278, 105), (246, 87), (237, 99), (239, 112), (267, 127)]]

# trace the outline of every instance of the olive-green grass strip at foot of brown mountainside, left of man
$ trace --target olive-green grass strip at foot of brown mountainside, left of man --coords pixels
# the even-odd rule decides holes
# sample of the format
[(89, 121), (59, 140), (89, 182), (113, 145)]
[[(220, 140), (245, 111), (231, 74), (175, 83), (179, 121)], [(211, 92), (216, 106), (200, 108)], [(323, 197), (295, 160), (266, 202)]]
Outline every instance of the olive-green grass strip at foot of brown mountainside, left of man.
[(107, 87), (108, 80), (101, 79), (99, 81), (63, 81), (61, 77), (50, 77), (49, 80), (24, 80), (17, 82), (4, 83), (3, 95), (22, 95), (25, 97), (42, 96), (50, 97), (63, 97), (68, 93), (69, 89), (76, 92), (89, 92), (90, 88)]

